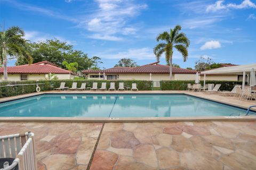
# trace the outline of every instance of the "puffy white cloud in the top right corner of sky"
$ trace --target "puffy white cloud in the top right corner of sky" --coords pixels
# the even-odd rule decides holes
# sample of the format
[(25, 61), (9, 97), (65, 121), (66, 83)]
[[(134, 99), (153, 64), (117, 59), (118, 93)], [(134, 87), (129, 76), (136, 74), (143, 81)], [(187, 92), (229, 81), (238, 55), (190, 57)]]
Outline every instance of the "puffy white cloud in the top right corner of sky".
[(256, 8), (256, 5), (250, 0), (244, 0), (241, 4), (224, 4), (224, 1), (216, 1), (214, 4), (206, 7), (206, 12), (216, 12), (220, 10), (228, 10), (229, 8), (243, 9), (243, 8)]

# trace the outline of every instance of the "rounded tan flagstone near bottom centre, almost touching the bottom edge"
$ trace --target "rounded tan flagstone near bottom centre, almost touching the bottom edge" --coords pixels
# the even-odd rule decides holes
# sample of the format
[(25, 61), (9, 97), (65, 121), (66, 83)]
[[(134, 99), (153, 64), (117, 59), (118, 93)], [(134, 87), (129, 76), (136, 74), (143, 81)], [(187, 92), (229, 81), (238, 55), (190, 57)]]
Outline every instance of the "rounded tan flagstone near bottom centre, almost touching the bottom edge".
[(158, 167), (156, 152), (153, 145), (142, 144), (133, 148), (133, 157), (139, 163), (146, 164), (153, 168)]

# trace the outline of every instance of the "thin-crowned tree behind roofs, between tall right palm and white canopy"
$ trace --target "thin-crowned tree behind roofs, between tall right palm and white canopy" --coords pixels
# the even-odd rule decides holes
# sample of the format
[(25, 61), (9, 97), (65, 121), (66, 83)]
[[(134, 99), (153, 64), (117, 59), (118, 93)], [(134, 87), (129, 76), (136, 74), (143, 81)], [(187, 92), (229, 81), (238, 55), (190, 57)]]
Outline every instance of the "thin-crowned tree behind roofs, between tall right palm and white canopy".
[(196, 71), (205, 71), (221, 67), (221, 64), (212, 61), (212, 58), (201, 56), (195, 63)]

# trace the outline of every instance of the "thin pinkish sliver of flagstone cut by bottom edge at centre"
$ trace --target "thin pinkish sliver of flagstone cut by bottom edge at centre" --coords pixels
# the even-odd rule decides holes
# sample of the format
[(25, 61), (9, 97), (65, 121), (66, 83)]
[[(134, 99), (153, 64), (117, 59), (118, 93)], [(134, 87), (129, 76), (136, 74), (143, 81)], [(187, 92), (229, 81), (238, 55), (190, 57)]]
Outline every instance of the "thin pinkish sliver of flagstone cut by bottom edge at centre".
[(116, 165), (115, 170), (156, 170), (157, 168), (152, 168), (140, 163), (131, 163), (124, 165)]

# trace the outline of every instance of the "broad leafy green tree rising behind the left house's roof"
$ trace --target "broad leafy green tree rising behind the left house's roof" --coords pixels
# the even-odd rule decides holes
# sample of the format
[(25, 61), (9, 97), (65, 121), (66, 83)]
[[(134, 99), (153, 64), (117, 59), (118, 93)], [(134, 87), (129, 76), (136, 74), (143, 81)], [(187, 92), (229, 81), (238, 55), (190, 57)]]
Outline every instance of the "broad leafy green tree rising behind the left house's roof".
[[(49, 61), (65, 69), (65, 65), (62, 65), (63, 61), (68, 63), (78, 63), (77, 71), (87, 70), (89, 67), (95, 65), (95, 60), (89, 58), (87, 54), (81, 50), (73, 49), (72, 45), (68, 45), (67, 42), (62, 42), (59, 39), (50, 39), (44, 42), (29, 43), (31, 49), (31, 55), (34, 58), (34, 63)], [(16, 65), (27, 64), (22, 58), (18, 58)]]

